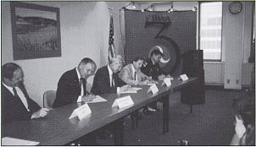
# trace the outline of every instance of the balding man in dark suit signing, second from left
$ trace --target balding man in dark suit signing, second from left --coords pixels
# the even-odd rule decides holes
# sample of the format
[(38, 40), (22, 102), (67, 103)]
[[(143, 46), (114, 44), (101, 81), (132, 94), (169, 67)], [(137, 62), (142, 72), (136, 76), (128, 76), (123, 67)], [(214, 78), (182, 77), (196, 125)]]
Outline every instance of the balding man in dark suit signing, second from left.
[(86, 91), (86, 79), (96, 71), (96, 63), (91, 58), (85, 57), (81, 60), (77, 68), (64, 73), (58, 80), (56, 99), (53, 107), (64, 106), (66, 104), (80, 102), (81, 95), (84, 101), (92, 101), (91, 95)]

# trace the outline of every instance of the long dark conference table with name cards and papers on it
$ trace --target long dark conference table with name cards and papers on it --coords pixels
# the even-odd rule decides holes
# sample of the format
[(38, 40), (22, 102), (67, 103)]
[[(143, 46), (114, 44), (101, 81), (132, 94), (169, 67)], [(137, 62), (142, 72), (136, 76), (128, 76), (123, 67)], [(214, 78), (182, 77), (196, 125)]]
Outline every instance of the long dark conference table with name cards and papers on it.
[[(181, 90), (182, 87), (196, 80), (196, 78), (189, 78), (186, 81), (181, 81), (175, 78), (171, 81), (170, 87), (162, 85), (163, 81), (159, 81), (159, 84), (157, 84), (159, 92), (155, 95), (152, 92), (147, 93), (150, 87), (148, 85), (136, 86), (142, 88), (137, 93), (120, 95), (108, 93), (100, 95), (107, 101), (89, 103), (88, 106), (91, 108), (92, 113), (81, 120), (77, 117), (72, 119), (69, 119), (69, 117), (75, 108), (84, 104), (83, 102), (54, 108), (43, 118), (3, 124), (1, 137), (40, 142), (38, 145), (64, 145), (86, 134), (93, 133), (98, 128), (102, 128), (109, 123), (114, 123), (114, 144), (123, 145), (124, 118), (159, 99), (163, 101), (163, 133), (167, 133), (169, 132), (170, 93)], [(133, 106), (123, 109), (111, 107), (115, 99), (125, 95), (131, 95), (131, 99), (134, 102)]]

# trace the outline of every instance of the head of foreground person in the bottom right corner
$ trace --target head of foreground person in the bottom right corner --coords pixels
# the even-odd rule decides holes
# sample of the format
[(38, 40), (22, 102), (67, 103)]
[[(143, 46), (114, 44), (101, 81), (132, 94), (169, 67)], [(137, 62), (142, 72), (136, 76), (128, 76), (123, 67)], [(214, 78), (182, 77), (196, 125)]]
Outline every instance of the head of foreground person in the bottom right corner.
[(235, 131), (231, 145), (255, 145), (255, 101), (253, 99), (235, 99)]

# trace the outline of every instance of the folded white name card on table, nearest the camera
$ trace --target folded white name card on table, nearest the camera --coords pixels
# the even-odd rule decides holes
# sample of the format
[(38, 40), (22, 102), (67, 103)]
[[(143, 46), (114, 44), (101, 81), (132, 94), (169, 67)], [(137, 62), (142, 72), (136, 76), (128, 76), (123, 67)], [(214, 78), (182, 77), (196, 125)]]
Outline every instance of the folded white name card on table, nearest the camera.
[(80, 107), (76, 108), (72, 112), (72, 114), (69, 117), (69, 119), (74, 118), (74, 117), (78, 117), (79, 120), (81, 120), (82, 118), (88, 116), (91, 113), (92, 113), (92, 111), (91, 111), (90, 107), (88, 106), (88, 104), (86, 103), (83, 106), (80, 106)]

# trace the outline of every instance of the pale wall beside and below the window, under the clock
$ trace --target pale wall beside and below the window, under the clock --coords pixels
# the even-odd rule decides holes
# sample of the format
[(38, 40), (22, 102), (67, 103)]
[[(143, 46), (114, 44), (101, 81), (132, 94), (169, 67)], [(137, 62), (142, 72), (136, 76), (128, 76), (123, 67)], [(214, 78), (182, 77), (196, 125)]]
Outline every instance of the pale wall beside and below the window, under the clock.
[[(252, 2), (242, 2), (242, 12), (231, 14), (231, 2), (223, 2), (222, 62), (204, 63), (205, 84), (225, 85), (227, 89), (241, 89), (251, 82), (254, 64), (248, 64), (252, 32)], [(231, 80), (227, 84), (227, 79)], [(236, 80), (238, 79), (238, 84)]]

